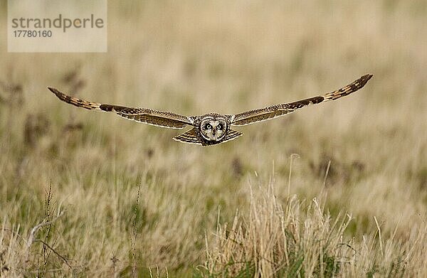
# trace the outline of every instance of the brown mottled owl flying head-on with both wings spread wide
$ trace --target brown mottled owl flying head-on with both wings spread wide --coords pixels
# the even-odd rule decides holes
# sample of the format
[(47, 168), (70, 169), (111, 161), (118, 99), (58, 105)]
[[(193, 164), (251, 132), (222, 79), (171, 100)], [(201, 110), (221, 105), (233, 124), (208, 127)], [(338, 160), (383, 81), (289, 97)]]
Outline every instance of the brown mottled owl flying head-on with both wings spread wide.
[(231, 141), (243, 135), (243, 133), (232, 129), (232, 127), (244, 126), (255, 122), (263, 122), (268, 119), (290, 114), (296, 109), (300, 109), (307, 105), (315, 105), (320, 102), (337, 100), (339, 97), (344, 97), (362, 88), (368, 80), (371, 79), (371, 77), (371, 74), (363, 75), (359, 79), (339, 90), (328, 92), (317, 97), (310, 97), (305, 100), (298, 100), (296, 102), (289, 102), (281, 105), (271, 105), (238, 114), (208, 113), (201, 116), (191, 117), (147, 108), (105, 105), (97, 102), (90, 102), (88, 100), (80, 100), (77, 97), (70, 97), (53, 87), (48, 87), (48, 89), (51, 90), (51, 92), (53, 92), (60, 100), (77, 107), (104, 112), (115, 112), (120, 117), (132, 119), (136, 122), (152, 124), (157, 127), (182, 129), (188, 125), (192, 128), (189, 129), (189, 131), (174, 137), (174, 140), (190, 144), (199, 144), (202, 146), (211, 146)]

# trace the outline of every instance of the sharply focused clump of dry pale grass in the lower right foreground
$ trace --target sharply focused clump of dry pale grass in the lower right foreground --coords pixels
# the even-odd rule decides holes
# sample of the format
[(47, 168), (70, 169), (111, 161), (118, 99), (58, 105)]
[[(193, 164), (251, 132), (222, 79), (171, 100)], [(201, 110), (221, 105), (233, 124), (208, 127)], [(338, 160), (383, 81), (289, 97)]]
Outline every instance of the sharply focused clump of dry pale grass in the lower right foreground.
[[(274, 186), (251, 188), (251, 205), (231, 226), (218, 224), (206, 242), (206, 277), (423, 277), (427, 226), (411, 228), (401, 242), (396, 230), (362, 239), (347, 237), (352, 215), (332, 217), (316, 198), (279, 201)], [(376, 221), (376, 218), (374, 218)], [(354, 221), (354, 220), (353, 220)], [(419, 257), (421, 255), (421, 257)]]

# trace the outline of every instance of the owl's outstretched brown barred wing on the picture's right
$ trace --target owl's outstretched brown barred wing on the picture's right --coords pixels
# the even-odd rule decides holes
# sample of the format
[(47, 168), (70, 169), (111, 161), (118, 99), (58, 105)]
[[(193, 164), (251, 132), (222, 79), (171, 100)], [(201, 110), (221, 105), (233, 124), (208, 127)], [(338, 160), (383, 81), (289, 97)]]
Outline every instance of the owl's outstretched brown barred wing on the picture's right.
[(320, 102), (337, 100), (339, 97), (344, 97), (362, 88), (368, 82), (368, 80), (371, 79), (371, 77), (371, 74), (364, 75), (358, 80), (355, 80), (351, 84), (342, 87), (339, 90), (328, 92), (317, 97), (310, 97), (305, 100), (298, 100), (297, 102), (290, 102), (282, 105), (272, 105), (261, 109), (254, 109), (251, 111), (230, 115), (229, 117), (231, 118), (231, 124), (241, 126), (246, 124), (253, 124), (254, 122), (262, 122), (267, 119), (273, 119), (275, 117), (283, 116), (284, 114), (292, 113), (296, 109), (300, 109), (307, 105), (315, 105)]

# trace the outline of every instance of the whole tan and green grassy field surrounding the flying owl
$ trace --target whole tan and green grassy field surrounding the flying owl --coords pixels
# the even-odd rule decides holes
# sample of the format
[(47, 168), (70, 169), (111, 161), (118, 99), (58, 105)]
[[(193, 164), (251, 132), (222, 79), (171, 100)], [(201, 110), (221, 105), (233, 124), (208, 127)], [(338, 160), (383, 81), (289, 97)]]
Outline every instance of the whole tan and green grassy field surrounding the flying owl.
[[(0, 34), (0, 276), (427, 277), (426, 1), (109, 1), (107, 53)], [(366, 73), (211, 147), (46, 89), (231, 114)]]

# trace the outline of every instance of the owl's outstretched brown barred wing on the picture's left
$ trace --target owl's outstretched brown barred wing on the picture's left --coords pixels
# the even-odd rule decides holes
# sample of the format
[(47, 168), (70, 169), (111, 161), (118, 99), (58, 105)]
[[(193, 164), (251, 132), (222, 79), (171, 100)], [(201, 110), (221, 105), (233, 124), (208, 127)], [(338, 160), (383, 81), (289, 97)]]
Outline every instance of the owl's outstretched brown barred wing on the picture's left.
[(118, 105), (102, 105), (97, 102), (88, 100), (80, 100), (77, 97), (70, 97), (63, 92), (48, 87), (60, 100), (67, 102), (70, 105), (83, 107), (85, 109), (100, 110), (105, 112), (116, 112), (120, 117), (132, 119), (137, 122), (152, 124), (157, 127), (169, 127), (172, 129), (181, 129), (186, 125), (192, 125), (193, 121), (189, 117), (181, 116), (172, 112), (162, 112), (145, 108), (132, 108)]

